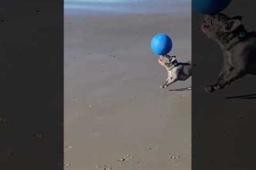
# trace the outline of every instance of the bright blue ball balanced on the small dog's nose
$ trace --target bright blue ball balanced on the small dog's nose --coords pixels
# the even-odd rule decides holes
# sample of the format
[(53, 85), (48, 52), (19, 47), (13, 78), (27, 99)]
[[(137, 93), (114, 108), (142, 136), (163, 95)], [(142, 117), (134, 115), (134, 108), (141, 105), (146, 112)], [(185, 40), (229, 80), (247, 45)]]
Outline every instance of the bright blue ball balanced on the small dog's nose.
[(166, 55), (172, 49), (172, 39), (166, 34), (158, 34), (151, 40), (151, 49), (156, 55)]

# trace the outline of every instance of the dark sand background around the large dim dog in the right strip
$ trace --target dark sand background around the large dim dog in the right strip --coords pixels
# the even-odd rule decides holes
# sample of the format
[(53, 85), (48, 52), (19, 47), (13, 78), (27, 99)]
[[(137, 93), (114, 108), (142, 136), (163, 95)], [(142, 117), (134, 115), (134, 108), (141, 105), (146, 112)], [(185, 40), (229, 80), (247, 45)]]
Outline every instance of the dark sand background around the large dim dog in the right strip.
[[(255, 31), (255, 4), (234, 0), (223, 13), (242, 15), (246, 29)], [(204, 91), (217, 80), (223, 58), (220, 47), (201, 32), (202, 19), (193, 11), (192, 60), (198, 66), (193, 68), (192, 169), (255, 169), (256, 77), (246, 75), (220, 91)]]

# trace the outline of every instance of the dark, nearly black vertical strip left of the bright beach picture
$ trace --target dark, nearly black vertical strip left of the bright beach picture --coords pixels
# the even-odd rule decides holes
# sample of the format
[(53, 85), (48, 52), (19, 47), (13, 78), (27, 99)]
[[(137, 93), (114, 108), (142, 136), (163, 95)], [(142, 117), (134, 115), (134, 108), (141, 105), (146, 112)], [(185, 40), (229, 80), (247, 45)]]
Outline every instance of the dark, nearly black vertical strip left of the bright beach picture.
[(0, 2), (0, 169), (63, 169), (63, 1)]

